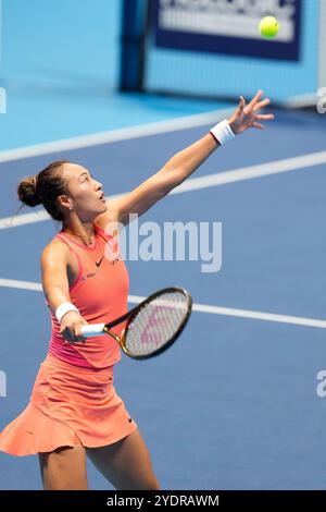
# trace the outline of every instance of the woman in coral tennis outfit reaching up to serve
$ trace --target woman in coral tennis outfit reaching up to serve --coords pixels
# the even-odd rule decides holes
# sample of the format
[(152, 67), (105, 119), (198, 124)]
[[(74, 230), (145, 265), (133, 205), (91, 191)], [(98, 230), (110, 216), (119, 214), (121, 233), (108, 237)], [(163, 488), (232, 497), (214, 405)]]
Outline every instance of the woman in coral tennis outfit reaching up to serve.
[[(1, 432), (0, 450), (38, 454), (45, 489), (87, 489), (86, 455), (116, 489), (160, 489), (146, 443), (113, 386), (118, 344), (111, 337), (86, 340), (80, 331), (86, 324), (108, 322), (127, 310), (128, 273), (116, 236), (105, 227), (126, 224), (129, 214), (147, 211), (229, 138), (263, 129), (262, 122), (274, 115), (261, 113), (269, 103), (262, 98), (262, 90), (248, 105), (240, 97), (228, 120), (108, 204), (101, 183), (68, 161), (53, 162), (18, 184), (22, 203), (42, 204), (62, 229), (40, 261), (52, 321), (49, 352), (29, 404)], [(115, 258), (105, 257), (108, 244)], [(118, 336), (122, 326), (114, 329)]]

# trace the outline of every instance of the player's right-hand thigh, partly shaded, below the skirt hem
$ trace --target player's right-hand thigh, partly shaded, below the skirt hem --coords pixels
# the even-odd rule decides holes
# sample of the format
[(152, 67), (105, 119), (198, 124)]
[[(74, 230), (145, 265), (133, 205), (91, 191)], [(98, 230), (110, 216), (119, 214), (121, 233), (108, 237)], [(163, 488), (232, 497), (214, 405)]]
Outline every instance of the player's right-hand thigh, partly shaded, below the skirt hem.
[(86, 453), (118, 490), (160, 489), (149, 451), (138, 429), (113, 444), (87, 448)]

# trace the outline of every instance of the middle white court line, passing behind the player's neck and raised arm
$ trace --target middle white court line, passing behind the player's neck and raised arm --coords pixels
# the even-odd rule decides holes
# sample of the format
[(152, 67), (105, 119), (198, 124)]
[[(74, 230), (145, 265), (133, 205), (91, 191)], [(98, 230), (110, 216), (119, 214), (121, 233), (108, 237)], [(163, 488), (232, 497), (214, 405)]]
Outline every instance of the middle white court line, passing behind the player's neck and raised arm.
[[(256, 166), (243, 167), (231, 171), (216, 172), (205, 176), (190, 178), (186, 182), (181, 183), (181, 185), (174, 188), (170, 194), (180, 194), (183, 192), (198, 191), (200, 188), (209, 188), (211, 186), (221, 186), (227, 183), (236, 183), (243, 180), (252, 180), (254, 178), (297, 171), (298, 169), (321, 166), (323, 163), (326, 163), (326, 151), (311, 153), (300, 157), (285, 158), (283, 160), (259, 163)], [(124, 193), (116, 194), (114, 196), (108, 196), (105, 199), (115, 199), (123, 195)], [(12, 217), (4, 217), (0, 219), (0, 230), (42, 222), (49, 219), (50, 217), (46, 211), (20, 215), (14, 218), (14, 221), (12, 221)]]

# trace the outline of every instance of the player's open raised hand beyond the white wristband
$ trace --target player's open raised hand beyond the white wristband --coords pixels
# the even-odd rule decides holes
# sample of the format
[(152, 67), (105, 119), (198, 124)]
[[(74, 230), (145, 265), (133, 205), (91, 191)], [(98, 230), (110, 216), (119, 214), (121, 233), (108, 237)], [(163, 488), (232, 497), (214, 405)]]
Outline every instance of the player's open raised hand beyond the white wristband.
[(250, 127), (264, 130), (264, 125), (260, 121), (274, 119), (273, 113), (260, 113), (262, 108), (271, 103), (269, 98), (261, 99), (263, 94), (262, 90), (259, 90), (248, 105), (246, 105), (243, 96), (240, 96), (237, 110), (228, 119), (228, 123), (236, 135)]

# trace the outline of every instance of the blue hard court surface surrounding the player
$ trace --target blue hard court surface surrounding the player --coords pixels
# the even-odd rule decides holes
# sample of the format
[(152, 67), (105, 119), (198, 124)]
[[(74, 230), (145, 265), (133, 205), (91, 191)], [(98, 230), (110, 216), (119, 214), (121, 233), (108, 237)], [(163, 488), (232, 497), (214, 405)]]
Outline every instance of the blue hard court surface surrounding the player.
[[(54, 96), (51, 95), (53, 109)], [(0, 370), (7, 377), (0, 430), (26, 406), (47, 353), (50, 320), (39, 256), (59, 230), (27, 208), (10, 224), (17, 182), (66, 158), (89, 168), (106, 196), (128, 192), (205, 134), (212, 122), (204, 115), (217, 122), (226, 105), (231, 108), (137, 97), (139, 111), (128, 125), (133, 98), (112, 94), (124, 124), (113, 119), (110, 126), (98, 125), (106, 141), (65, 142), (95, 132), (86, 125), (45, 139), (34, 119), (30, 141), (8, 141), (0, 153)], [(84, 99), (78, 102), (82, 108)], [(155, 109), (162, 114), (155, 117)], [(163, 489), (325, 488), (326, 393), (317, 377), (326, 371), (325, 115), (272, 111), (276, 119), (265, 131), (220, 148), (188, 180), (189, 190), (180, 187), (142, 218), (162, 227), (222, 222), (221, 270), (205, 273), (200, 261), (187, 259), (127, 261), (130, 307), (135, 296), (167, 285), (186, 288), (195, 303), (171, 350), (146, 362), (123, 356), (115, 368), (115, 387), (148, 443)], [(202, 120), (193, 115), (199, 113)], [(177, 127), (186, 115), (188, 126), (183, 121)], [(16, 125), (17, 119), (8, 122)], [(163, 120), (165, 126), (158, 124)], [(1, 122), (5, 126), (3, 117)], [(40, 146), (51, 141), (52, 149)], [(36, 458), (1, 453), (0, 472), (1, 489), (41, 489)], [(91, 464), (88, 476), (91, 489), (108, 489)]]

